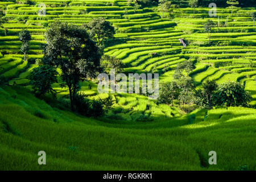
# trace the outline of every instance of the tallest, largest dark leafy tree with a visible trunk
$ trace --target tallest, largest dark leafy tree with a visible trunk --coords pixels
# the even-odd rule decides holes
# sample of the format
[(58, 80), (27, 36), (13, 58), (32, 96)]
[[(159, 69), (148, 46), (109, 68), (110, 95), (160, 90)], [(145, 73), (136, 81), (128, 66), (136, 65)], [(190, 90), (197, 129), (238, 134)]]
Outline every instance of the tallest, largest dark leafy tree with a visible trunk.
[(73, 98), (80, 89), (79, 82), (96, 77), (101, 71), (101, 53), (84, 26), (56, 20), (49, 26), (45, 38), (44, 54), (49, 64), (60, 67), (61, 86), (68, 87), (73, 110)]

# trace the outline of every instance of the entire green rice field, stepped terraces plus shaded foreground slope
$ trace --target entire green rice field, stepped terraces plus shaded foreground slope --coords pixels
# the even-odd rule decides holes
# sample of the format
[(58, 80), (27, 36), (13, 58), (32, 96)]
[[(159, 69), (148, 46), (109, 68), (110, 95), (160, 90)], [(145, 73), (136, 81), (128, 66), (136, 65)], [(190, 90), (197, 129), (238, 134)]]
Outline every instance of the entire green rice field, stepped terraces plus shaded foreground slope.
[[(55, 19), (81, 25), (104, 17), (116, 29), (104, 53), (121, 59), (125, 73), (159, 73), (159, 82), (167, 82), (178, 63), (193, 58), (196, 69), (190, 75), (197, 87), (208, 78), (239, 81), (255, 108), (256, 29), (250, 16), (255, 7), (237, 8), (233, 16), (228, 8), (217, 8), (217, 17), (200, 7), (193, 18), (187, 1), (175, 1), (182, 8), (170, 9), (171, 18), (161, 18), (155, 7), (134, 11), (134, 2), (127, 5), (126, 0), (33, 2), (0, 2), (9, 19), (3, 24), (7, 35), (0, 28), (0, 75), (10, 84), (0, 88), (0, 170), (255, 170), (256, 109), (214, 107), (185, 114), (138, 94), (98, 94), (96, 82), (86, 81), (81, 92), (89, 99), (115, 101), (104, 117), (86, 118), (50, 98), (47, 103), (35, 98), (27, 78), (38, 66), (35, 60), (43, 57), (44, 32)], [(38, 16), (42, 2), (46, 16)], [(203, 27), (207, 19), (217, 24), (212, 45)], [(23, 61), (18, 39), (23, 28), (32, 34), (28, 61)], [(180, 38), (188, 43), (186, 48)], [(67, 89), (53, 87), (59, 100), (67, 100)], [(38, 165), (40, 150), (46, 151), (46, 166)], [(217, 165), (208, 164), (212, 150)]]

